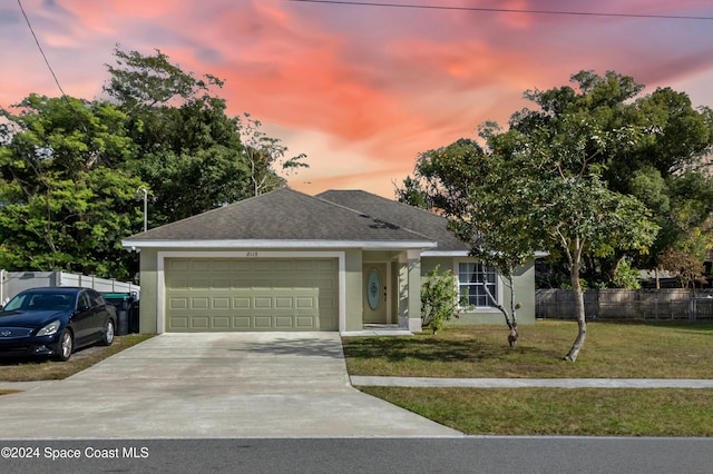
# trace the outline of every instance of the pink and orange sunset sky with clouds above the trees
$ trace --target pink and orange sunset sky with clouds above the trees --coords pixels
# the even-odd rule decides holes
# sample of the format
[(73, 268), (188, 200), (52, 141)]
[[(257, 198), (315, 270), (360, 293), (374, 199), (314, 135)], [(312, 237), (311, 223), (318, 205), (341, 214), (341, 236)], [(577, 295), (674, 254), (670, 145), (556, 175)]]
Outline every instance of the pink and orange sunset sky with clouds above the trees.
[[(486, 120), (506, 126), (529, 105), (524, 91), (566, 86), (580, 70), (616, 71), (644, 93), (671, 87), (713, 107), (711, 0), (370, 3), (401, 7), (0, 0), (0, 107), (31, 92), (61, 95), (20, 4), (69, 96), (102, 96), (117, 45), (158, 49), (196, 77), (225, 79), (228, 115), (251, 113), (289, 156), (307, 155), (310, 168), (287, 179), (310, 195), (363, 189), (393, 198), (419, 154), (476, 138)], [(661, 16), (707, 20), (652, 18)]]

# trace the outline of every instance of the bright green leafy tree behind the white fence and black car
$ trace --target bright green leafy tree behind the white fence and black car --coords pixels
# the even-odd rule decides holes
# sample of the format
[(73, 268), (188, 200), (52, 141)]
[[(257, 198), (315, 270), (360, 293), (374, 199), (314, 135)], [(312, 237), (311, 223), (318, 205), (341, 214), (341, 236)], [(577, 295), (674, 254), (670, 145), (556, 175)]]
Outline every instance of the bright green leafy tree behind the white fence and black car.
[(0, 266), (129, 276), (120, 239), (145, 186), (121, 166), (125, 116), (106, 101), (30, 95), (0, 129)]

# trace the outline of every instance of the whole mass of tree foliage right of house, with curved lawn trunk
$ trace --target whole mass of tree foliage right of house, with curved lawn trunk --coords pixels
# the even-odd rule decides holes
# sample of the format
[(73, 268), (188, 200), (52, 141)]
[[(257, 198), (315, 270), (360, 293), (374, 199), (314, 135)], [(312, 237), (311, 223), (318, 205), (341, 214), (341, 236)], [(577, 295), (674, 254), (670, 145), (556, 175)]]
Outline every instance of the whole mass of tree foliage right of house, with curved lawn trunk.
[(537, 247), (560, 259), (578, 295), (566, 356), (575, 361), (586, 335), (583, 275), (602, 278), (625, 255), (651, 263), (649, 249), (692, 248), (691, 239), (710, 245), (713, 120), (683, 93), (641, 96), (643, 86), (616, 72), (582, 71), (572, 82), (526, 91), (535, 107), (512, 113), (507, 130), (481, 125), (482, 145), (461, 139), (422, 154), (398, 194), (445, 213), (501, 273)]

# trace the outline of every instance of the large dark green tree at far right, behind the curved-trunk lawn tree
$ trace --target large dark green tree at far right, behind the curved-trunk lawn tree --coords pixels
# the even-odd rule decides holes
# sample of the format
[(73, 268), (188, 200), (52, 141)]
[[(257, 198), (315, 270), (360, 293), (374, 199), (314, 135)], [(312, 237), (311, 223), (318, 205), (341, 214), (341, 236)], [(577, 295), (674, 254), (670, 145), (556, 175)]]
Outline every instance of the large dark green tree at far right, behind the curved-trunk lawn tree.
[(671, 251), (703, 261), (706, 248), (713, 246), (713, 111), (693, 108), (685, 93), (671, 88), (641, 95), (643, 86), (614, 73), (580, 72), (577, 80), (592, 91), (590, 100), (569, 99), (564, 88), (537, 97), (548, 107), (551, 101), (579, 107), (603, 118), (609, 129), (626, 125), (642, 131), (636, 144), (603, 150), (597, 161), (604, 167), (602, 178), (607, 188), (635, 196), (661, 227), (646, 255), (616, 251), (603, 258), (587, 254), (586, 278), (593, 284), (611, 284), (614, 269), (625, 257), (639, 268), (662, 266), (668, 260), (658, 256)]

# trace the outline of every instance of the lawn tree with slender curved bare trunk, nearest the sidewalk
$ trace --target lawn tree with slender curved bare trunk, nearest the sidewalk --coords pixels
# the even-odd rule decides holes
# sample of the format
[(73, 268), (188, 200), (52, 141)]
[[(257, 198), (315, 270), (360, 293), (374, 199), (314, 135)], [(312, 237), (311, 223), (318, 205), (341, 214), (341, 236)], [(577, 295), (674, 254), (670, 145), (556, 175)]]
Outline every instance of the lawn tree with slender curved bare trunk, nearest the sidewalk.
[(583, 255), (606, 257), (616, 250), (646, 253), (658, 226), (635, 197), (611, 189), (604, 180), (613, 157), (626, 156), (656, 130), (623, 120), (626, 102), (643, 89), (632, 78), (582, 71), (572, 77), (577, 90), (563, 87), (527, 91), (539, 106), (512, 116), (505, 138), (511, 162), (528, 176), (522, 197), (528, 218), (545, 230), (546, 243), (565, 257), (576, 295), (578, 325), (565, 359), (575, 362), (586, 338)]

